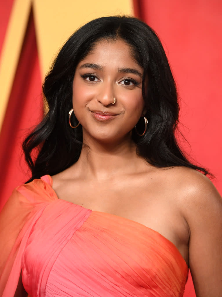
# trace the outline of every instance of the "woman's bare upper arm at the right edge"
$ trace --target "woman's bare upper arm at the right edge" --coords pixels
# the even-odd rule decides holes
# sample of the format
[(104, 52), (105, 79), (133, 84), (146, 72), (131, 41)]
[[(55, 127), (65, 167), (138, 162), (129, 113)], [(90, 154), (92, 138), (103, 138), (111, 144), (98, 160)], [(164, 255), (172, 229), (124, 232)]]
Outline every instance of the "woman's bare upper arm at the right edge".
[(205, 176), (195, 176), (185, 199), (189, 266), (197, 297), (222, 296), (222, 198)]

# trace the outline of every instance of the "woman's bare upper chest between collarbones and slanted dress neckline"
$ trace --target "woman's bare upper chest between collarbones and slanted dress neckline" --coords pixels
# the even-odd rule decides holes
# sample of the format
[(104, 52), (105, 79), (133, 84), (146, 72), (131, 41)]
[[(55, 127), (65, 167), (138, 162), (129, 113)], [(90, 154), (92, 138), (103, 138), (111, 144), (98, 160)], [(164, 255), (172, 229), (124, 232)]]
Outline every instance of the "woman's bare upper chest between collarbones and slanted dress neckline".
[(56, 193), (60, 199), (156, 230), (174, 243), (188, 262), (188, 230), (172, 185), (143, 178), (101, 183), (76, 181), (59, 187)]

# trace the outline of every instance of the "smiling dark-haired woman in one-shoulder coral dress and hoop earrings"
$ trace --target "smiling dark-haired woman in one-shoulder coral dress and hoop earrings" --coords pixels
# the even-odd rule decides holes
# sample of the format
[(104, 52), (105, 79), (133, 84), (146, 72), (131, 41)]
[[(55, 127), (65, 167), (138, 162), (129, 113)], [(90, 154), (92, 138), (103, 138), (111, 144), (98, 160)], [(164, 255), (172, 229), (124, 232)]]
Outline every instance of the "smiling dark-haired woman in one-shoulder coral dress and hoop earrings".
[(32, 177), (1, 215), (2, 296), (183, 296), (188, 267), (197, 297), (221, 296), (222, 200), (176, 142), (153, 30), (87, 23), (43, 92), (48, 113), (23, 143)]

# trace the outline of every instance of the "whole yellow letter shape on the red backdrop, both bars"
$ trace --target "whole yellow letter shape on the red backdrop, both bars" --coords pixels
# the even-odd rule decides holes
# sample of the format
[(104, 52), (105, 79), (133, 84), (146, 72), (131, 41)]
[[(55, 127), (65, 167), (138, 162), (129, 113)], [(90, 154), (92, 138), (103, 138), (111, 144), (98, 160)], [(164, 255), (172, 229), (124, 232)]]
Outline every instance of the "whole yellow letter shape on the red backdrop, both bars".
[(15, 0), (3, 45), (0, 81), (0, 129), (20, 56), (31, 4), (42, 79), (58, 49), (86, 22), (101, 16), (133, 14), (132, 0)]

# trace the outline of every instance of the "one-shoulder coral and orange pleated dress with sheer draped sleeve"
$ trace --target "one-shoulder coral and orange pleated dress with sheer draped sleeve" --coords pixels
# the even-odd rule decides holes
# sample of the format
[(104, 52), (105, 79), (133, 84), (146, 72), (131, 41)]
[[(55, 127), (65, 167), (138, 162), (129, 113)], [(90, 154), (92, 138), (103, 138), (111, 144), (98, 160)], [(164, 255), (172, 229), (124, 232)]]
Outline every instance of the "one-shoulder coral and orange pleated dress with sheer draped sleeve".
[(22, 270), (31, 297), (181, 297), (188, 267), (175, 245), (132, 220), (58, 199), (52, 178), (15, 189), (0, 216), (0, 296)]

